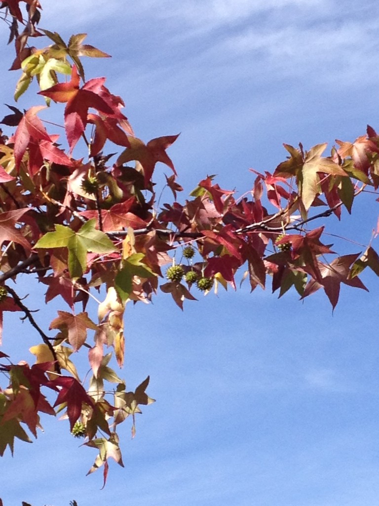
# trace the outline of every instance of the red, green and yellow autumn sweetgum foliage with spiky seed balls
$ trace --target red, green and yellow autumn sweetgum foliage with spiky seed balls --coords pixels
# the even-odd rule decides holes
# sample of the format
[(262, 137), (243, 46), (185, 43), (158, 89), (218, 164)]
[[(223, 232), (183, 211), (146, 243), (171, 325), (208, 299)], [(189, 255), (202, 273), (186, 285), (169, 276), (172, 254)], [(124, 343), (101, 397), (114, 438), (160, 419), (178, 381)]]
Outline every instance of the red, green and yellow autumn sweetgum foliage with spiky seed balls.
[[(324, 229), (328, 217), (341, 220), (357, 197), (376, 192), (379, 136), (368, 126), (354, 142), (336, 141), (329, 154), (326, 144), (309, 150), (285, 144), (285, 161), (272, 173), (252, 171), (253, 188), (242, 196), (206, 176), (180, 201), (167, 153), (178, 136), (138, 139), (106, 79), (86, 80), (82, 57), (108, 55), (84, 44), (85, 34), (66, 43), (39, 29), (37, 0), (9, 0), (0, 12), (16, 49), (15, 101), (32, 81), (39, 89), (28, 110), (8, 106), (0, 134), (0, 322), (4, 312), (20, 312), (37, 338), (32, 365), (0, 352), (7, 378), (0, 455), (7, 447), (13, 453), (15, 438), (37, 436), (40, 412), (63, 413), (72, 434), (97, 449), (88, 474), (103, 467), (105, 484), (109, 458), (123, 466), (118, 425), (131, 419), (134, 436), (135, 414), (154, 402), (149, 377), (127, 391), (112, 365), (124, 362), (126, 306), (163, 292), (183, 309), (198, 293), (235, 290), (243, 281), (251, 291), (268, 282), (279, 297), (293, 289), (300, 299), (321, 288), (333, 309), (341, 283), (366, 290), (358, 276), (366, 267), (379, 275), (376, 251), (369, 244), (363, 254), (340, 255)], [(34, 40), (47, 46), (38, 49)], [(63, 136), (43, 119), (55, 103), (64, 104)], [(161, 206), (159, 174), (172, 197)], [(46, 285), (48, 329), (8, 283), (17, 286), (21, 275)], [(62, 309), (50, 314), (55, 298)], [(97, 318), (88, 315), (89, 304), (97, 305)], [(86, 381), (76, 352), (88, 353)]]

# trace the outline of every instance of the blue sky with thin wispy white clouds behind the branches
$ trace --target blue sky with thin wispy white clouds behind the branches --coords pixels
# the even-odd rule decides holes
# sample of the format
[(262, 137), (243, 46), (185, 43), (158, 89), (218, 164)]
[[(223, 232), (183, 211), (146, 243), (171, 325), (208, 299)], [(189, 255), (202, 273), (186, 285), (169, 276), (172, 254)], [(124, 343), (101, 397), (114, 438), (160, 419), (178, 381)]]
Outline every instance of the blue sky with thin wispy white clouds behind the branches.
[[(65, 39), (87, 32), (113, 56), (85, 60), (86, 75), (107, 76), (136, 135), (181, 132), (169, 154), (187, 192), (207, 174), (244, 192), (249, 167), (272, 172), (283, 142), (307, 149), (352, 141), (366, 123), (379, 129), (374, 2), (57, 4), (42, 4), (41, 26)], [(16, 80), (0, 83), (4, 102)], [(29, 94), (20, 107), (35, 101)], [(330, 229), (367, 244), (377, 203), (353, 209), (341, 228), (331, 217)], [(341, 254), (363, 249), (337, 244)], [(101, 472), (85, 477), (96, 453), (78, 448), (67, 421), (46, 417), (37, 441), (16, 441), (14, 458), (0, 460), (4, 505), (376, 506), (379, 285), (364, 274), (370, 292), (343, 287), (334, 315), (321, 292), (302, 303), (247, 285), (200, 296), (184, 313), (163, 293), (128, 307), (121, 373), (130, 389), (150, 374), (157, 402), (138, 417), (133, 441), (129, 427), (122, 432), (125, 469), (111, 462), (99, 491)], [(19, 291), (48, 324), (59, 305), (44, 310), (43, 287), (29, 279)], [(15, 360), (36, 343), (27, 323), (6, 320), (3, 350)]]

